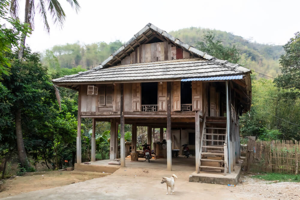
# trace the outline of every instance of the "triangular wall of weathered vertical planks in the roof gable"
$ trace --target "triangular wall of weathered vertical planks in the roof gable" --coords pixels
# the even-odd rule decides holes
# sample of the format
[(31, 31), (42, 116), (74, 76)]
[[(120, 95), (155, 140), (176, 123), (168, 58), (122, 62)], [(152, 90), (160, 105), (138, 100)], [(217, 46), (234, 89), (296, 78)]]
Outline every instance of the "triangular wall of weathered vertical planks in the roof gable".
[(134, 64), (190, 58), (190, 53), (181, 48), (172, 46), (168, 42), (141, 44), (130, 55), (126, 56), (121, 64)]

